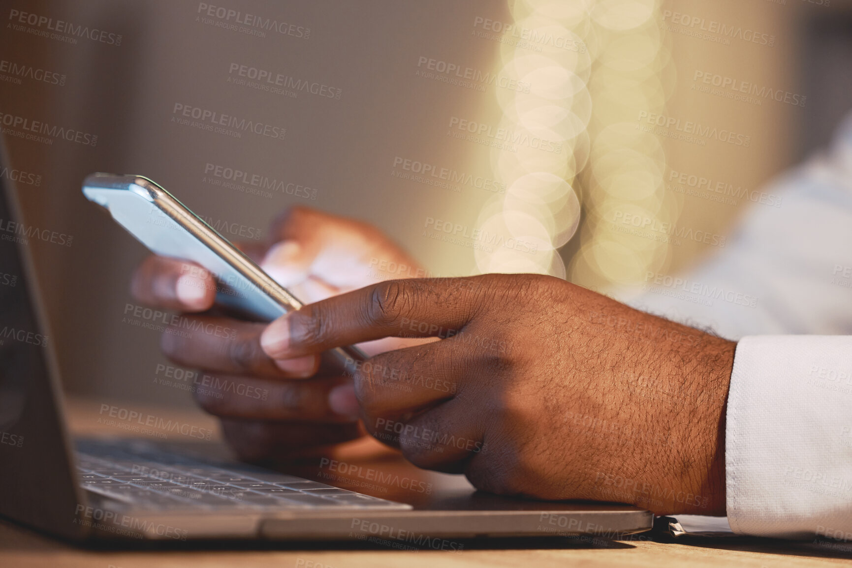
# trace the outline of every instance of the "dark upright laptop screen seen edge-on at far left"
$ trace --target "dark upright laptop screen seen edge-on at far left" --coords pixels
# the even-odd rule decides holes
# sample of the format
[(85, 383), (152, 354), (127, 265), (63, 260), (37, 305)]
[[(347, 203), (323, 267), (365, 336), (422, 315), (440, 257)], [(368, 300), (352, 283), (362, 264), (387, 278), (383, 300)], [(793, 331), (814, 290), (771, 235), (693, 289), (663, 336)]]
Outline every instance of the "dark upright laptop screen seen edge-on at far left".
[(10, 171), (0, 158), (0, 514), (77, 537), (80, 501), (60, 410), (54, 338), (39, 314), (28, 258), (41, 232), (20, 218)]

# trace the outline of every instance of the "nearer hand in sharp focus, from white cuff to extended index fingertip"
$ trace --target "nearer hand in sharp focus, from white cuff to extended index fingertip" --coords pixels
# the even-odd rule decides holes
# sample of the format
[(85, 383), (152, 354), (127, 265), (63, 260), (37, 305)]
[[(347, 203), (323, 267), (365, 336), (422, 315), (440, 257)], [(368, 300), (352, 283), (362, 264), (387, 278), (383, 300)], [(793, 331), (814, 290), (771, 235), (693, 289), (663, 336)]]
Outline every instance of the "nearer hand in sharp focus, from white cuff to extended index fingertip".
[(386, 336), (441, 338), (355, 373), (366, 429), (415, 465), (500, 494), (724, 514), (734, 343), (531, 274), (373, 284), (261, 342), (290, 359)]

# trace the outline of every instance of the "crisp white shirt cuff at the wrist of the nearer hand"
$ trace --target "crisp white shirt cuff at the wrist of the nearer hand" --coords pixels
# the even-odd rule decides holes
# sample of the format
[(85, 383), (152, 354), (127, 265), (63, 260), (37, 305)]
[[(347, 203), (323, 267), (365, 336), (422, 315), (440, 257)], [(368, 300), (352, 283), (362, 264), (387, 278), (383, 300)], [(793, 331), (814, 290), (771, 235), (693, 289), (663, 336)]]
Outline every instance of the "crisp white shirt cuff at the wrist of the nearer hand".
[(740, 340), (725, 474), (734, 532), (852, 538), (852, 336)]

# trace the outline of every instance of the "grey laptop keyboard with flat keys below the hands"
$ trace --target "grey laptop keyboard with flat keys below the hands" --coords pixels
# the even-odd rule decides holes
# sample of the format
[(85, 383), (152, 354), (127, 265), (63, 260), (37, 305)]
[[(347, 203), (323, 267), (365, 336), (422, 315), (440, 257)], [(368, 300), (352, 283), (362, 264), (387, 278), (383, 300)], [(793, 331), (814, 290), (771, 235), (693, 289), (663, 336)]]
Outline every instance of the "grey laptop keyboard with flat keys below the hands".
[(410, 508), (294, 475), (243, 466), (228, 468), (148, 442), (79, 441), (77, 462), (86, 491), (134, 508)]

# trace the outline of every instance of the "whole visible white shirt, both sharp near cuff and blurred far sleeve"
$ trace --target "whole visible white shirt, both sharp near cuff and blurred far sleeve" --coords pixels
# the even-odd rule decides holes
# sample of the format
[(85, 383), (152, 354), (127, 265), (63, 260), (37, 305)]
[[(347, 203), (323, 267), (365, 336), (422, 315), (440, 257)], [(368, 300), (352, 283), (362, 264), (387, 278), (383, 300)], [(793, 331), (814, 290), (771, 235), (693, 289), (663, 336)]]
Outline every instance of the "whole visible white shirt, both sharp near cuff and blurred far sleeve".
[(752, 205), (715, 257), (674, 279), (649, 273), (627, 303), (740, 340), (731, 528), (852, 542), (852, 116), (830, 151), (763, 192), (780, 207)]

